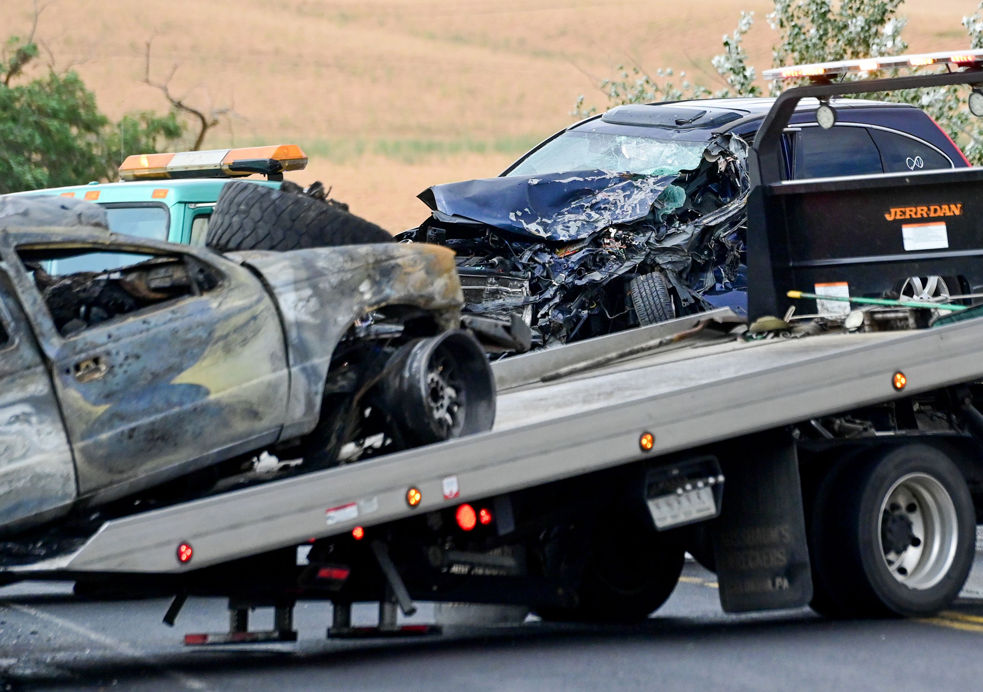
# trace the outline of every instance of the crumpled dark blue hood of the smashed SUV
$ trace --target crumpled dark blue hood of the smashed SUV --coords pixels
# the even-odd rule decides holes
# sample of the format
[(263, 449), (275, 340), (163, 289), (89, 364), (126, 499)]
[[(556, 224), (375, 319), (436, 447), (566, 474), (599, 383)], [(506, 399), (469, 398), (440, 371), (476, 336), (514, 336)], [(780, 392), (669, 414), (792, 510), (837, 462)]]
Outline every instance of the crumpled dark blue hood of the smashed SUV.
[(638, 221), (653, 205), (672, 206), (670, 199), (675, 196), (660, 198), (677, 177), (667, 170), (663, 175), (591, 170), (508, 176), (434, 185), (419, 197), (447, 216), (565, 242), (588, 238), (607, 226)]

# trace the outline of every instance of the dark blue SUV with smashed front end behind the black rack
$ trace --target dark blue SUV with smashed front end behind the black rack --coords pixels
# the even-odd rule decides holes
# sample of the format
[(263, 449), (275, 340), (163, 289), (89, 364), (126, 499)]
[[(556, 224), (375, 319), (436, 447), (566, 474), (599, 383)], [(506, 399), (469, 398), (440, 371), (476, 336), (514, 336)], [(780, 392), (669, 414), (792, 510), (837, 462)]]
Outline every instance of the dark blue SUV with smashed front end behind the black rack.
[[(717, 307), (743, 313), (747, 151), (773, 100), (618, 106), (496, 178), (428, 189), (430, 218), (397, 238), (454, 250), (465, 312), (521, 318), (539, 346)], [(785, 133), (788, 180), (968, 165), (917, 108), (834, 99), (838, 119), (821, 128), (819, 105), (804, 100)], [(898, 291), (950, 290), (938, 279)]]

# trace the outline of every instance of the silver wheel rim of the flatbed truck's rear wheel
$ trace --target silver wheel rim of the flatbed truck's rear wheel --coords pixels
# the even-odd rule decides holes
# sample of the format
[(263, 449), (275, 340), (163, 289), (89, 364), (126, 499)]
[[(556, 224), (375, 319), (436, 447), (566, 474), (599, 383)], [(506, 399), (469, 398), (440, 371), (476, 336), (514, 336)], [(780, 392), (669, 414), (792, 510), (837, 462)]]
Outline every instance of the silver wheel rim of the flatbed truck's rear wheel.
[(958, 541), (949, 491), (923, 473), (902, 476), (881, 503), (878, 532), (884, 563), (898, 582), (925, 590), (953, 565)]

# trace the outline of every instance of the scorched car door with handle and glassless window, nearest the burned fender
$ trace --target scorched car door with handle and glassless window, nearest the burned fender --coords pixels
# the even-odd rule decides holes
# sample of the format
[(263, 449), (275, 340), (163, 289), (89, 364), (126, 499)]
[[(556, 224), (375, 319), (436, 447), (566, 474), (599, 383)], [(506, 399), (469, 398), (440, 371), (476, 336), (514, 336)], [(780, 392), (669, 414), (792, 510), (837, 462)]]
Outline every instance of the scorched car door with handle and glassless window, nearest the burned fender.
[(249, 270), (161, 246), (22, 245), (22, 302), (51, 361), (79, 491), (127, 494), (273, 441), (288, 375)]

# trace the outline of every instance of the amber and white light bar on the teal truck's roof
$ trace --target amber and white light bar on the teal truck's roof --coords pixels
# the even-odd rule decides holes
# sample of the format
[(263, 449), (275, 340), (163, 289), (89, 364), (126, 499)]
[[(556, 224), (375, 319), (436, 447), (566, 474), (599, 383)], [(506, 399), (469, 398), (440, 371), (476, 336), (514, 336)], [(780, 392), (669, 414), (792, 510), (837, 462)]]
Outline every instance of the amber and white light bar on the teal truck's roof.
[(307, 154), (297, 144), (248, 146), (238, 149), (136, 153), (120, 166), (122, 180), (168, 178), (235, 178), (252, 173), (278, 176), (307, 166)]

